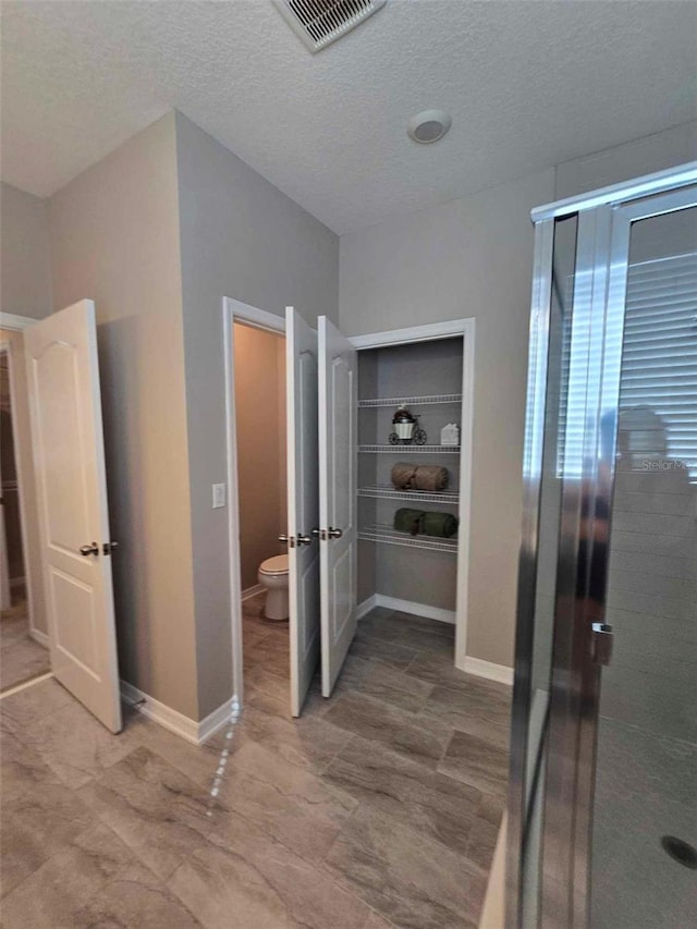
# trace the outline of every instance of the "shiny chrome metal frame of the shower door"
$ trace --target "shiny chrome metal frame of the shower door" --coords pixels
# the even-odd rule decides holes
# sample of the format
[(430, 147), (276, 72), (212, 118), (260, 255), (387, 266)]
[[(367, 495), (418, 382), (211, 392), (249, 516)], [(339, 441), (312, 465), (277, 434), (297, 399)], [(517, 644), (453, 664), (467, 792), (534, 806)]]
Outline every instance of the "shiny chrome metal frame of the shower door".
[[(689, 190), (692, 185), (692, 190)], [(583, 326), (585, 338), (573, 346), (568, 390), (583, 399), (594, 428), (587, 429), (575, 468), (564, 467), (562, 516), (554, 608), (554, 647), (550, 686), (549, 751), (543, 810), (543, 848), (538, 887), (557, 871), (566, 893), (566, 925), (585, 929), (589, 918), (590, 841), (595, 789), (595, 754), (599, 707), (600, 665), (592, 657), (592, 623), (602, 620), (601, 602), (590, 598), (591, 570), (578, 575), (582, 512), (587, 546), (585, 565), (602, 570), (604, 558), (594, 561), (603, 531), (598, 503), (610, 512), (614, 481), (614, 442), (620, 400), (622, 322), (625, 311), (632, 224), (641, 219), (697, 204), (697, 162), (681, 166), (626, 184), (562, 200), (533, 210), (536, 224), (530, 347), (528, 360), (527, 428), (524, 452), (524, 512), (518, 570), (516, 663), (513, 690), (511, 778), (506, 867), (506, 927), (518, 929), (523, 918), (524, 855), (528, 820), (526, 783), (530, 670), (535, 635), (535, 594), (539, 549), (539, 504), (545, 440), (546, 388), (552, 288), (554, 220), (577, 215), (577, 242), (572, 327)], [(687, 188), (687, 190), (686, 190)], [(673, 193), (669, 193), (669, 192)], [(660, 195), (660, 196), (659, 196)], [(608, 339), (608, 323), (620, 338)], [(619, 327), (619, 328), (617, 328)], [(612, 444), (602, 448), (600, 417), (611, 426)], [(608, 415), (610, 418), (608, 419)], [(587, 419), (588, 421), (588, 419)], [(570, 423), (566, 423), (570, 426)], [(568, 445), (566, 445), (568, 450)], [(603, 457), (604, 456), (604, 457)], [(602, 561), (602, 563), (601, 563)], [(603, 578), (604, 580), (604, 578)], [(602, 584), (601, 584), (602, 586)], [(549, 844), (548, 844), (549, 843)], [(548, 876), (549, 877), (549, 876)], [(542, 892), (542, 925), (558, 925), (559, 900)]]

